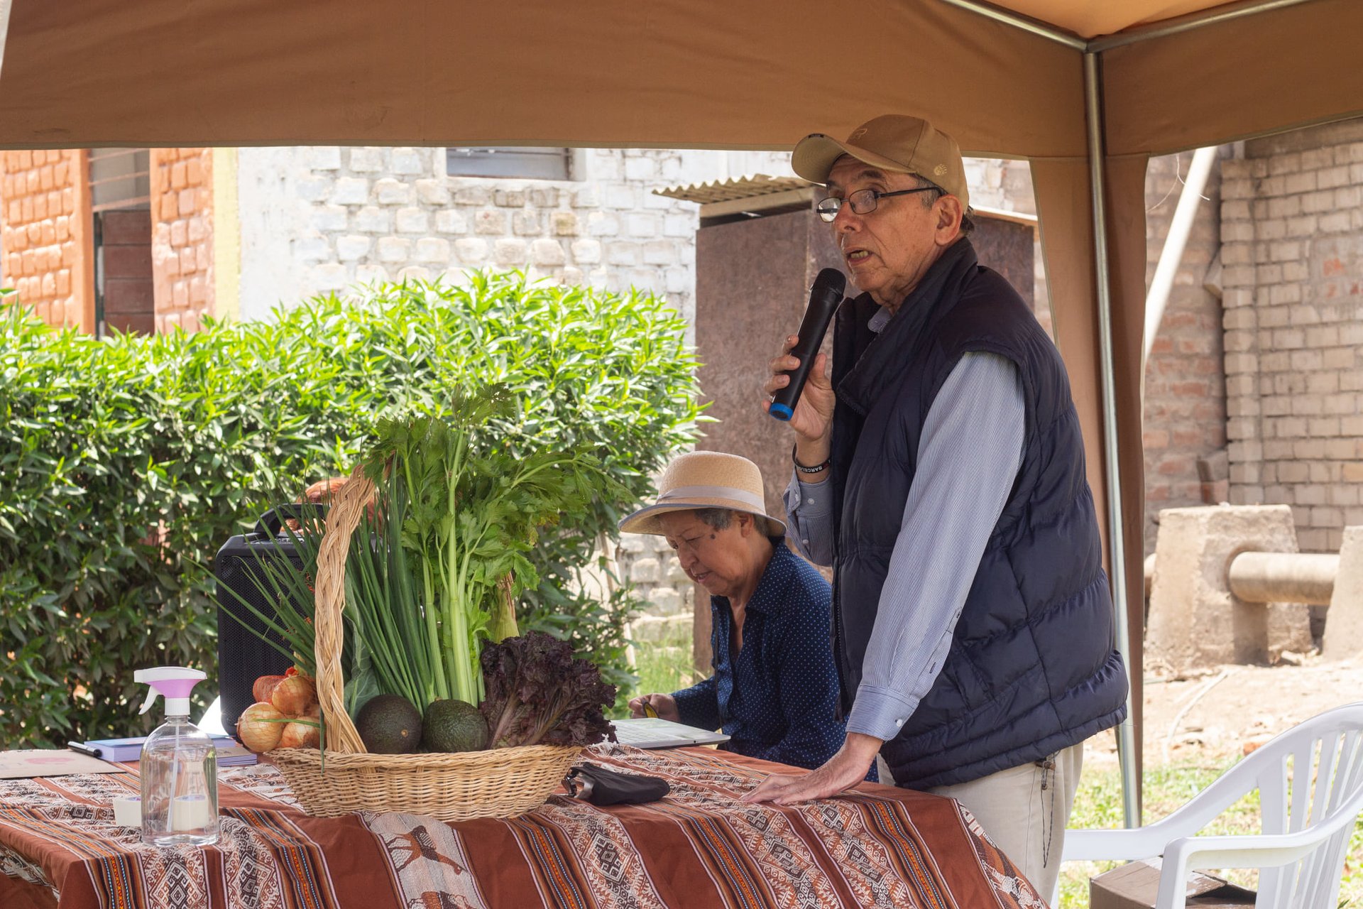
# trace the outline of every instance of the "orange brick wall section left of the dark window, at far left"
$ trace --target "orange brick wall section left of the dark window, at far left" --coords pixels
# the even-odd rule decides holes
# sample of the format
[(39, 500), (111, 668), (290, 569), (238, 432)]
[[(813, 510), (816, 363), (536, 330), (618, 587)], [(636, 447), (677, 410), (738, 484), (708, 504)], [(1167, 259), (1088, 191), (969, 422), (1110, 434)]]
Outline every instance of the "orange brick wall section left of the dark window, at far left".
[(80, 149), (0, 153), (4, 283), (50, 324), (94, 319), (90, 195)]

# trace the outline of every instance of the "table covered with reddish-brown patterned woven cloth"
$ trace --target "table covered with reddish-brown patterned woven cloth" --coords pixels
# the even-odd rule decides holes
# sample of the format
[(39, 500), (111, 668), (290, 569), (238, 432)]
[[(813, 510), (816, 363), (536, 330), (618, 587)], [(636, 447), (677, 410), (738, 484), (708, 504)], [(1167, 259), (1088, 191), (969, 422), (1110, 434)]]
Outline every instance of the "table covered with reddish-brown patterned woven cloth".
[(221, 771), (215, 846), (155, 849), (113, 823), (136, 773), (0, 781), (4, 909), (1044, 909), (955, 801), (876, 784), (803, 805), (736, 796), (781, 765), (710, 748), (589, 759), (672, 793), (442, 823), (309, 818), (269, 765)]

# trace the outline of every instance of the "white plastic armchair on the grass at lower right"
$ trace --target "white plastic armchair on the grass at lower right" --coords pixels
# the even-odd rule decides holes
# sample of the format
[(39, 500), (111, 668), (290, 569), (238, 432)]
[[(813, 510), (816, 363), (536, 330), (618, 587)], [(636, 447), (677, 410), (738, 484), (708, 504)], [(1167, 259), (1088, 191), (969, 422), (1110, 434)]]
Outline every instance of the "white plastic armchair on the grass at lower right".
[[(1168, 818), (1135, 830), (1067, 830), (1065, 861), (1163, 854), (1156, 909), (1184, 909), (1189, 871), (1259, 868), (1255, 909), (1336, 909), (1363, 811), (1363, 702), (1281, 733)], [(1194, 835), (1259, 790), (1262, 833)]]

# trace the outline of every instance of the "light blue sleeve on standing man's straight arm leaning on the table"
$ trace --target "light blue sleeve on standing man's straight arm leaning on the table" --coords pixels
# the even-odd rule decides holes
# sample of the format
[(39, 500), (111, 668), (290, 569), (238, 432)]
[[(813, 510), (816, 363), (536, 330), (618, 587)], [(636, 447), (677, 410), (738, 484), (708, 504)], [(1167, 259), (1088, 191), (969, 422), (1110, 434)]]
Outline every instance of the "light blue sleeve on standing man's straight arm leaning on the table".
[(848, 732), (893, 739), (932, 687), (1022, 466), (1025, 425), (1013, 361), (962, 356), (923, 425)]

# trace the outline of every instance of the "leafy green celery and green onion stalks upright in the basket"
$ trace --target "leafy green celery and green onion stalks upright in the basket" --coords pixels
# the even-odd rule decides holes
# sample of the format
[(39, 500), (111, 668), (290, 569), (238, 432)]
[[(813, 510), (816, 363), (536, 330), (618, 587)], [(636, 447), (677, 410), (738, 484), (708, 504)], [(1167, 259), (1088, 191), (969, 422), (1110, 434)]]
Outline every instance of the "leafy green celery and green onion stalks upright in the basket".
[(500, 386), (458, 391), (447, 414), (380, 421), (365, 459), (380, 502), (367, 523), (386, 545), (357, 533), (348, 561), (357, 658), (418, 707), (483, 699), (481, 641), (517, 634), (514, 597), (538, 583), (526, 557), (538, 529), (612, 495), (585, 451), (493, 439), (514, 416)]

